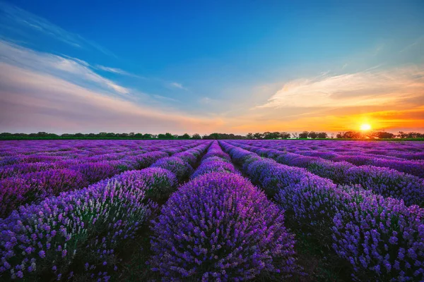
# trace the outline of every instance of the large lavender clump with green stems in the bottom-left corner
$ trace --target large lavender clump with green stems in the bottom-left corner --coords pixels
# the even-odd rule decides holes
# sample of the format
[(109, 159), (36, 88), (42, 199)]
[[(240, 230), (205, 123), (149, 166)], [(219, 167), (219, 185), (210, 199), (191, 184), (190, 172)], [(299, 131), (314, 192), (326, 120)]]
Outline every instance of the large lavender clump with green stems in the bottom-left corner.
[(147, 185), (126, 173), (81, 190), (21, 206), (0, 219), (0, 277), (57, 277), (79, 264), (116, 262), (119, 243), (134, 237), (155, 209)]

